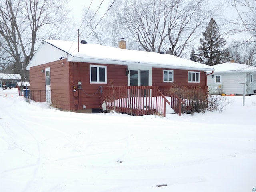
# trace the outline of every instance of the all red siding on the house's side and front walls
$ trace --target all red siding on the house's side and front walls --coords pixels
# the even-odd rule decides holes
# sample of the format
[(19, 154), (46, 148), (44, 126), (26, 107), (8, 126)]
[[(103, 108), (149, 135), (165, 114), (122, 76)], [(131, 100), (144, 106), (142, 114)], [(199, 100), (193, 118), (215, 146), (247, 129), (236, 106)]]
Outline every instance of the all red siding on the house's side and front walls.
[[(30, 90), (45, 90), (45, 73), (41, 71), (50, 67), (53, 105), (64, 110), (79, 110), (83, 108), (83, 105), (87, 109), (100, 108), (100, 87), (127, 86), (127, 66), (93, 65), (107, 66), (107, 84), (90, 84), (90, 63), (59, 60), (30, 68)], [(205, 79), (206, 74), (202, 71), (200, 72), (200, 83), (188, 83), (188, 70), (174, 70), (174, 83), (164, 83), (163, 69), (152, 68), (152, 86), (172, 86), (174, 84), (177, 86), (206, 86)], [(82, 82), (80, 90), (77, 87), (78, 81)], [(76, 88), (75, 93), (73, 87)]]

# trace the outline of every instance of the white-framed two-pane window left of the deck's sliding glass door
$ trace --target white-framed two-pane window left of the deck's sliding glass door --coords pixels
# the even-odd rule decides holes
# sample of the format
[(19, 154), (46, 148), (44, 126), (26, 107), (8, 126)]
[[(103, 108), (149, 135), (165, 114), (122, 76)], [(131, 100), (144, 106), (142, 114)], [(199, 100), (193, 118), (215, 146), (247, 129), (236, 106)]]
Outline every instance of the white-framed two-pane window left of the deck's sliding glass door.
[(90, 65), (90, 83), (107, 83), (107, 66)]

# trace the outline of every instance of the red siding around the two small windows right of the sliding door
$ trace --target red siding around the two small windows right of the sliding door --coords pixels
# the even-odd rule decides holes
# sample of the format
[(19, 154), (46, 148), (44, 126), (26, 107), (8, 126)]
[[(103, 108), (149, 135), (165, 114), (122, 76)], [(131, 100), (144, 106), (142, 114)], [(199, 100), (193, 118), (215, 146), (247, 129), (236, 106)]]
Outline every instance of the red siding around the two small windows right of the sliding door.
[[(173, 70), (173, 83), (166, 83), (163, 81), (163, 70)], [(200, 83), (188, 82), (188, 71), (193, 70), (180, 70), (180, 69), (168, 69), (168, 68), (152, 68), (152, 86), (206, 86), (206, 73), (200, 71)]]

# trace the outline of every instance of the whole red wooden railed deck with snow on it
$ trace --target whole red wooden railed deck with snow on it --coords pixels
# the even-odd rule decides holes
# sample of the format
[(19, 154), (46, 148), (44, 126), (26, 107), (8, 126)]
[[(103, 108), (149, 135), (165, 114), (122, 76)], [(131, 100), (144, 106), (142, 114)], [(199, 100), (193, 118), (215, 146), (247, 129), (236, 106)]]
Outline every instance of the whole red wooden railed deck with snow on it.
[(100, 88), (103, 110), (131, 114), (166, 116), (168, 108), (179, 115), (191, 110), (195, 101), (207, 103), (207, 86), (104, 86)]

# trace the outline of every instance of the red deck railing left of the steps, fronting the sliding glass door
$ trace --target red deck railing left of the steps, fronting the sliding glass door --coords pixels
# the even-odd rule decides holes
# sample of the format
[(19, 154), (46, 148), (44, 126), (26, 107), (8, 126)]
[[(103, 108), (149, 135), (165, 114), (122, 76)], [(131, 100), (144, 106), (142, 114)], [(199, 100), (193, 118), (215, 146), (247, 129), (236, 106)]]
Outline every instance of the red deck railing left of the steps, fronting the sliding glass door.
[(166, 116), (170, 102), (157, 86), (104, 86), (100, 88), (100, 107), (132, 115)]

